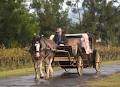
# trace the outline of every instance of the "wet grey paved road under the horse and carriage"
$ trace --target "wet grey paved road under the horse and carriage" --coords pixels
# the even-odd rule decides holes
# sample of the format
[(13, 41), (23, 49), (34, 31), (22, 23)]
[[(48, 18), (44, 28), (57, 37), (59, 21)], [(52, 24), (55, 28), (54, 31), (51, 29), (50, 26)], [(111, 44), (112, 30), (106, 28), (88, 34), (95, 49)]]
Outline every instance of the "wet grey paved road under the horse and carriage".
[(85, 82), (89, 79), (101, 78), (116, 72), (120, 72), (120, 65), (104, 65), (99, 74), (96, 74), (93, 68), (84, 69), (81, 77), (76, 73), (76, 69), (71, 69), (67, 73), (60, 70), (55, 72), (51, 80), (35, 81), (33, 75), (1, 79), (0, 87), (88, 87)]

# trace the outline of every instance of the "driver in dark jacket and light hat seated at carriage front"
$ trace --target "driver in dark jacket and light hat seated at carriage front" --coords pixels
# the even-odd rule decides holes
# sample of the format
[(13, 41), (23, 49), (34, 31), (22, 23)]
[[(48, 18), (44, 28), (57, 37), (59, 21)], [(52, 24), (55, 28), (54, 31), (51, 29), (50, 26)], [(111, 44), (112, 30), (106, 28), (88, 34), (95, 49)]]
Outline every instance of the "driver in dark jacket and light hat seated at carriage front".
[(57, 31), (56, 31), (56, 34), (55, 34), (53, 40), (55, 41), (55, 43), (57, 45), (65, 45), (66, 44), (67, 39), (61, 28), (57, 28)]

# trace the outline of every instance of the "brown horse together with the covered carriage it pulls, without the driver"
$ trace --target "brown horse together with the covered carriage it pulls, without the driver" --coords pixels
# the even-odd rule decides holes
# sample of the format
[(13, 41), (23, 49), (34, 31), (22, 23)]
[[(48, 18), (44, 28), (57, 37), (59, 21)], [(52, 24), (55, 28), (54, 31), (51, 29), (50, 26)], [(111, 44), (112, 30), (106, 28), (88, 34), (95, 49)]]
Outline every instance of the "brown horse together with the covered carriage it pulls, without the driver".
[[(81, 40), (87, 37), (86, 47), (82, 48)], [(79, 75), (82, 75), (83, 68), (91, 67), (98, 72), (100, 69), (100, 56), (94, 47), (94, 37), (86, 33), (83, 34), (66, 34), (66, 45), (57, 46), (53, 40), (43, 36), (35, 37), (29, 50), (35, 68), (35, 78), (44, 77), (42, 72), (43, 63), (47, 66), (46, 79), (53, 76), (52, 62), (59, 62), (63, 69), (76, 68)], [(83, 39), (85, 41), (85, 39)], [(84, 43), (83, 45), (85, 45)], [(91, 50), (90, 50), (91, 49)]]

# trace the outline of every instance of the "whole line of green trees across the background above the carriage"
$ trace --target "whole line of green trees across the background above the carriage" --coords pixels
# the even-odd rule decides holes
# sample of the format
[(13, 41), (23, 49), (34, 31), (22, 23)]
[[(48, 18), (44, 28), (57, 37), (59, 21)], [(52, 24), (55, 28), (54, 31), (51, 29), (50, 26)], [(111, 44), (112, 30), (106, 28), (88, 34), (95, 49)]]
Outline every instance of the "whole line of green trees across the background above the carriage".
[[(47, 37), (57, 27), (66, 33), (90, 32), (108, 44), (120, 44), (120, 6), (114, 6), (115, 0), (30, 0), (30, 8), (26, 1), (0, 0), (0, 45), (24, 47), (34, 33)], [(68, 6), (65, 10), (63, 3)], [(68, 18), (70, 11), (78, 14), (78, 23)]]

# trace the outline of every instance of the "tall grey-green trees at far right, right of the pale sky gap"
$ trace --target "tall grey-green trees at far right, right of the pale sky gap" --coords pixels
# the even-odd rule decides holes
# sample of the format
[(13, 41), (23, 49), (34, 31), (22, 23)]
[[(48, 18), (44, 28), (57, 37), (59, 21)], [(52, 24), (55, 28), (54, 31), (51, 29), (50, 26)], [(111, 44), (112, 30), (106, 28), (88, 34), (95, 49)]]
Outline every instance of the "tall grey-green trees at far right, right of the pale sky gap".
[(105, 0), (85, 0), (83, 8), (83, 31), (94, 33), (108, 44), (119, 44), (120, 8), (115, 7), (113, 1)]

